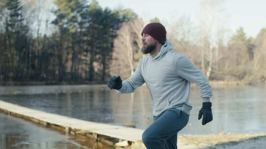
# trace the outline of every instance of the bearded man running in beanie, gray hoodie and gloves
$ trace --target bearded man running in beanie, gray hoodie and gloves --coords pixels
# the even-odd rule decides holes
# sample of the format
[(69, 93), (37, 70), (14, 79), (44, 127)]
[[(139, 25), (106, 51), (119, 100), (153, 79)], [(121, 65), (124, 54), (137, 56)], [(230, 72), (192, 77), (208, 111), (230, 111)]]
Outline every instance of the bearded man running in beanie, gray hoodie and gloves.
[(143, 83), (147, 84), (153, 103), (153, 119), (142, 134), (147, 149), (177, 149), (177, 133), (189, 120), (190, 82), (196, 83), (202, 108), (202, 125), (212, 121), (211, 86), (205, 75), (184, 55), (174, 52), (166, 39), (166, 29), (160, 23), (146, 25), (142, 32), (142, 58), (133, 73), (125, 81), (112, 76), (108, 87), (118, 93), (132, 93)]

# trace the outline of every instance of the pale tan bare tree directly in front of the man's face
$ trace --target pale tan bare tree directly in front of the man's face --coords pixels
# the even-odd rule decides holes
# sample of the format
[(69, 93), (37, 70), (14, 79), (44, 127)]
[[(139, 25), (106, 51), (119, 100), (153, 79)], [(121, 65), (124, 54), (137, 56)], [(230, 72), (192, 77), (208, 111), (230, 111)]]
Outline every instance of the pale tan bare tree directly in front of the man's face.
[[(143, 28), (142, 20), (135, 19), (131, 22), (123, 23), (117, 32), (117, 38), (114, 40), (114, 52), (112, 61), (112, 71), (115, 74), (132, 75), (140, 55), (136, 53), (141, 48), (141, 30)], [(122, 72), (120, 69), (123, 67)], [(128, 74), (130, 72), (130, 74)], [(125, 76), (126, 77), (126, 76)]]

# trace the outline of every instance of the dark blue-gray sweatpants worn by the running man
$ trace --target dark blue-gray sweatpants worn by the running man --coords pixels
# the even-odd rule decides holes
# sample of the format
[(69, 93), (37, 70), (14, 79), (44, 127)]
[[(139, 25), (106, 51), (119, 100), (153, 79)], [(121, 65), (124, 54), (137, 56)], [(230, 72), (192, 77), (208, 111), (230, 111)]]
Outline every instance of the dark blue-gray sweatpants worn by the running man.
[(153, 117), (151, 124), (142, 134), (142, 142), (147, 149), (177, 149), (177, 133), (189, 120), (185, 112), (170, 108)]

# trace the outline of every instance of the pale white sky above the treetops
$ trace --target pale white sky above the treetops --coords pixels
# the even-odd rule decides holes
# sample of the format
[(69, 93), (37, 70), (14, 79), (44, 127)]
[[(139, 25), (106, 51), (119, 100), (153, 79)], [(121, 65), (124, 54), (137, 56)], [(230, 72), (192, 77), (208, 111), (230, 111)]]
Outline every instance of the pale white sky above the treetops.
[[(97, 0), (105, 8), (131, 8), (146, 21), (158, 17), (171, 24), (181, 16), (190, 17), (197, 24), (200, 0)], [(266, 27), (266, 0), (225, 0), (226, 25), (233, 34), (240, 26), (247, 36), (256, 37)], [(167, 26), (166, 26), (167, 30)]]

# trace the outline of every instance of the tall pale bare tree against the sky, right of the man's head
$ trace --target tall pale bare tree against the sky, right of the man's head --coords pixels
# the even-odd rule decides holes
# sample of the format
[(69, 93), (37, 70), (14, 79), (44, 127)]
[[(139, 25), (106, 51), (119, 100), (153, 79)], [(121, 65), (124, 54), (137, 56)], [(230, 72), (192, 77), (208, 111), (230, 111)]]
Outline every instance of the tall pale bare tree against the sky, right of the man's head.
[[(223, 40), (225, 28), (224, 0), (202, 0), (199, 12), (199, 41), (201, 43), (201, 69), (210, 77), (214, 63), (214, 50)], [(216, 58), (218, 59), (219, 51)]]

